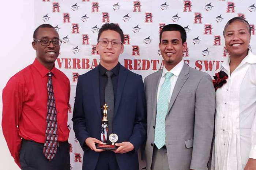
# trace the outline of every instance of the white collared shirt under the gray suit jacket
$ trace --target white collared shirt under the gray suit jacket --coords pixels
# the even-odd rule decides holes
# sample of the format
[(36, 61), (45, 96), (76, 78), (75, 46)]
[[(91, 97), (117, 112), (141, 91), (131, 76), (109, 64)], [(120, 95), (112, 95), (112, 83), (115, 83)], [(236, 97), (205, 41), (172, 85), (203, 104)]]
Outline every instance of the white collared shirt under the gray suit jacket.
[(159, 81), (159, 85), (158, 85), (158, 90), (157, 90), (157, 102), (158, 102), (158, 96), (159, 96), (159, 92), (160, 92), (161, 86), (165, 82), (165, 74), (167, 72), (171, 72), (173, 74), (173, 76), (170, 78), (171, 89), (170, 89), (170, 95), (169, 95), (169, 100), (168, 100), (168, 103), (170, 103), (173, 89), (175, 87), (175, 84), (177, 82), (178, 76), (180, 75), (180, 72), (181, 72), (183, 66), (184, 66), (184, 61), (181, 60), (181, 62), (178, 63), (176, 66), (174, 66), (172, 68), (172, 70), (170, 70), (170, 71), (168, 71), (165, 67), (163, 67), (163, 72), (162, 72), (162, 75), (161, 75), (161, 78), (160, 78), (160, 81)]

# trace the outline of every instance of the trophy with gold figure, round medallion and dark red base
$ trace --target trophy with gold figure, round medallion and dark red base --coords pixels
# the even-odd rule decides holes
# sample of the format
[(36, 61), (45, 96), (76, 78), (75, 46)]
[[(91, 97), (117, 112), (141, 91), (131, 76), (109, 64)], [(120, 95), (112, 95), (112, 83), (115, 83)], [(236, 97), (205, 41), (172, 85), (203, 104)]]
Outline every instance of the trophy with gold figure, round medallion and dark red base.
[[(103, 108), (104, 108), (104, 110), (103, 110), (103, 118), (101, 120), (101, 127), (107, 128), (108, 127), (108, 106), (107, 106), (107, 104), (105, 104), (103, 106)], [(118, 140), (117, 134), (110, 134), (109, 135), (109, 141), (112, 142), (112, 144), (108, 144), (108, 143), (99, 144), (99, 143), (96, 143), (96, 149), (116, 150), (117, 146), (114, 143), (117, 142), (117, 140)]]

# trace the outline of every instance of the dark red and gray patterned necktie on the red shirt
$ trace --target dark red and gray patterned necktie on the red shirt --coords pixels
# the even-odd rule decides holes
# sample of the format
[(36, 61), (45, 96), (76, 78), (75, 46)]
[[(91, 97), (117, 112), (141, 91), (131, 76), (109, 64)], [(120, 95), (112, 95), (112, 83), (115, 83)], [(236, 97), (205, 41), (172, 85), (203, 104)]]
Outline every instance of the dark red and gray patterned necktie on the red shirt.
[(47, 116), (46, 116), (46, 131), (44, 143), (44, 155), (51, 161), (57, 153), (58, 141), (58, 127), (57, 127), (57, 111), (55, 108), (55, 99), (52, 84), (52, 72), (48, 73), (48, 102), (47, 102)]

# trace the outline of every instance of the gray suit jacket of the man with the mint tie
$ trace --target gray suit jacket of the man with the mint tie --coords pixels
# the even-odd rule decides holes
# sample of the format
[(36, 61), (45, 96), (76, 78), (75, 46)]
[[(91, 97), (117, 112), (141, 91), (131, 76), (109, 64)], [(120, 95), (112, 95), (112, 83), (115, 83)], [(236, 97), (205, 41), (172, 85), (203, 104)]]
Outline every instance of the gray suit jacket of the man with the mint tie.
[[(147, 99), (145, 156), (150, 170), (153, 155), (157, 89), (162, 70), (144, 80)], [(214, 130), (215, 90), (210, 75), (184, 64), (165, 118), (170, 170), (207, 170)]]

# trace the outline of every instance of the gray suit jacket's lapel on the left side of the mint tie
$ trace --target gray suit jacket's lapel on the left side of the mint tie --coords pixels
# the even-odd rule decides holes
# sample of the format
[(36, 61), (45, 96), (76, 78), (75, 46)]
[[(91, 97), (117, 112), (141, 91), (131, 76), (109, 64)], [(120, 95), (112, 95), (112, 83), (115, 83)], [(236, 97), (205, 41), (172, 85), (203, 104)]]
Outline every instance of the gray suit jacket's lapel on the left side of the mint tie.
[(162, 75), (163, 70), (159, 70), (158, 72), (156, 72), (155, 74), (155, 78), (153, 78), (152, 80), (152, 103), (153, 103), (153, 118), (155, 120), (155, 116), (157, 115), (157, 90), (158, 90), (158, 85), (159, 85), (159, 81), (161, 79), (161, 75)]

